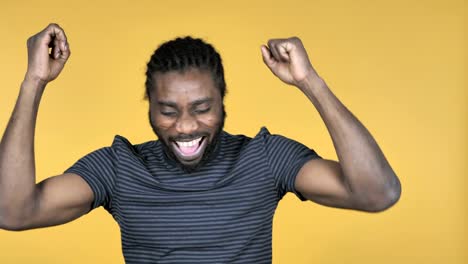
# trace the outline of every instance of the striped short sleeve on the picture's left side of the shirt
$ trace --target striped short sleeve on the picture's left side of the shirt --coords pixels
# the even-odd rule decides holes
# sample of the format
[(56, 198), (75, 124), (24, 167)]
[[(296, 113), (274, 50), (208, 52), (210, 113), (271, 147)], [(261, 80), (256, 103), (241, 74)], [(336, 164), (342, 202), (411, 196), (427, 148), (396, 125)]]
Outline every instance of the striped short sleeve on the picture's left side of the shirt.
[(78, 174), (89, 184), (94, 193), (91, 209), (99, 206), (104, 206), (107, 210), (110, 208), (116, 175), (115, 164), (113, 149), (105, 147), (87, 154), (65, 171)]

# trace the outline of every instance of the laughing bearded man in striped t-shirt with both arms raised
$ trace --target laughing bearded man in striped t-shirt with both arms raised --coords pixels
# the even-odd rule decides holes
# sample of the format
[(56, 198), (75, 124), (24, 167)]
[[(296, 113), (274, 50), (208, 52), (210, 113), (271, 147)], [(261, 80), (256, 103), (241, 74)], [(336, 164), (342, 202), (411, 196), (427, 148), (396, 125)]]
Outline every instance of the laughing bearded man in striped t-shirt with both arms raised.
[(398, 178), (301, 41), (273, 39), (261, 53), (274, 75), (316, 107), (339, 162), (266, 128), (253, 138), (223, 131), (221, 58), (186, 37), (162, 44), (148, 62), (149, 120), (159, 140), (133, 145), (116, 136), (112, 146), (36, 184), (39, 102), (70, 56), (63, 29), (49, 25), (28, 40), (28, 70), (0, 143), (0, 227), (59, 225), (104, 206), (120, 226), (128, 263), (270, 263), (272, 219), (286, 192), (367, 212), (396, 203)]

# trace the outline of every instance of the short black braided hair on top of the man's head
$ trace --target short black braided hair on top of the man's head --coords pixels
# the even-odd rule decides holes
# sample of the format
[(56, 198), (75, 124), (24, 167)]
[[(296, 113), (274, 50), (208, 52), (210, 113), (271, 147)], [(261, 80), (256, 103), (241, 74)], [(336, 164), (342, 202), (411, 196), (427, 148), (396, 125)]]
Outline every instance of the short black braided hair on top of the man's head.
[(192, 37), (170, 40), (154, 51), (146, 69), (145, 98), (149, 99), (151, 89), (155, 88), (154, 73), (184, 72), (190, 68), (209, 71), (221, 98), (224, 98), (226, 82), (221, 56), (212, 45)]

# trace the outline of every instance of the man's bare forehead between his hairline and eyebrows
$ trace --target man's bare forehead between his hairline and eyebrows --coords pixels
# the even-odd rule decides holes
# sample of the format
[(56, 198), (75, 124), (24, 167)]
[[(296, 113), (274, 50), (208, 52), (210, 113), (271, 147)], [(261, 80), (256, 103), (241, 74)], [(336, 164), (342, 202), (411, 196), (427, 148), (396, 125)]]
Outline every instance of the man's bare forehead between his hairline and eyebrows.
[(219, 91), (215, 87), (209, 71), (189, 69), (183, 72), (170, 71), (153, 75), (155, 88), (153, 93), (157, 100), (193, 101), (200, 97), (216, 98)]

